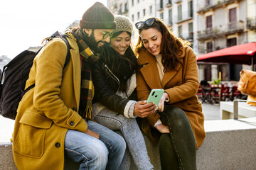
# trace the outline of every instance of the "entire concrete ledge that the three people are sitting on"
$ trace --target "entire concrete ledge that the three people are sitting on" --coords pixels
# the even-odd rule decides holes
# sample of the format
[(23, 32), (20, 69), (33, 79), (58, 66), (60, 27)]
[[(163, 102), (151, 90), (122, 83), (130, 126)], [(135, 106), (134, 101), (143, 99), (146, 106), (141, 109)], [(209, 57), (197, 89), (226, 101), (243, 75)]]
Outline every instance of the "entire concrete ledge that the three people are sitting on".
[[(198, 170), (247, 170), (256, 167), (256, 118), (240, 120), (206, 120), (206, 139), (197, 151)], [(145, 137), (154, 169), (161, 169), (158, 147)], [(11, 142), (0, 145), (0, 169), (16, 169)], [(78, 164), (66, 160), (65, 169)], [(132, 169), (136, 169), (132, 165)]]

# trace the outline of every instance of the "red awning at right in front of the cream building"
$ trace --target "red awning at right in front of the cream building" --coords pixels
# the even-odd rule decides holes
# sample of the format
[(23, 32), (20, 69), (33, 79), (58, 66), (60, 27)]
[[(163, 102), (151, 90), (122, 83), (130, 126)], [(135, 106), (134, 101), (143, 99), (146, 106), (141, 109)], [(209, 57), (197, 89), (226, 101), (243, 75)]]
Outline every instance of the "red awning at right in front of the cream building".
[(251, 65), (256, 62), (256, 42), (223, 48), (198, 57), (198, 62), (221, 62)]

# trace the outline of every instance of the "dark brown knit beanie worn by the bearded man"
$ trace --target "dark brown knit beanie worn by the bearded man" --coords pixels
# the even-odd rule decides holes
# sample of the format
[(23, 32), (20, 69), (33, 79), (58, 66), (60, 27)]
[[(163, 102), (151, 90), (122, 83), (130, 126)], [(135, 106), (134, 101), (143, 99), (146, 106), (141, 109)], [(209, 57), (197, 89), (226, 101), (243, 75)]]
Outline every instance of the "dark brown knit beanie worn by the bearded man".
[(79, 23), (80, 28), (87, 29), (114, 29), (114, 15), (109, 8), (96, 2), (85, 11)]

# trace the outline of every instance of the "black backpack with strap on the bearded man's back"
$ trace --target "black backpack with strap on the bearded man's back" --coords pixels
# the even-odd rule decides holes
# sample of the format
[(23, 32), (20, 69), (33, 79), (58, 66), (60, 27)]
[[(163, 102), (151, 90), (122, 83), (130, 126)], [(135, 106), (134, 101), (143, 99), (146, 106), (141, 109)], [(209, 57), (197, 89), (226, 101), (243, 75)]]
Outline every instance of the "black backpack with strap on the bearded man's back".
[[(64, 64), (65, 68), (70, 60), (70, 45), (66, 39), (66, 35), (60, 35), (58, 31), (46, 40), (49, 41), (53, 38), (63, 39), (68, 47), (68, 53)], [(40, 50), (38, 50), (38, 52)], [(25, 50), (4, 66), (0, 81), (0, 114), (5, 118), (15, 120), (18, 103), (21, 101), (23, 95), (35, 86), (35, 84), (33, 84), (27, 89), (24, 89), (28, 74), (33, 65), (33, 60), (38, 52)]]

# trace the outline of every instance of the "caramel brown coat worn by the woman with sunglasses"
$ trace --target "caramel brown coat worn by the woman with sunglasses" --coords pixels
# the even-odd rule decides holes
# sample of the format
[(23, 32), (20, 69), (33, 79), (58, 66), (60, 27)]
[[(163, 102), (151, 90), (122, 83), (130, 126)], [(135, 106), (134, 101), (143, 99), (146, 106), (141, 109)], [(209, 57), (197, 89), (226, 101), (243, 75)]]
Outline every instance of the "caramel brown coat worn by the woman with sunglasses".
[[(169, 104), (181, 108), (188, 116), (198, 148), (202, 145), (206, 133), (203, 127), (202, 106), (196, 96), (199, 86), (196, 55), (191, 47), (182, 47), (181, 50), (179, 57), (183, 66), (178, 64), (175, 70), (165, 72), (162, 82), (154, 55), (151, 55), (146, 49), (139, 53), (138, 62), (143, 67), (137, 74), (137, 95), (139, 100), (146, 100), (151, 89), (164, 89), (169, 95)], [(156, 141), (151, 134), (151, 128), (154, 128), (154, 124), (159, 118), (160, 115), (154, 113), (142, 120), (142, 130), (151, 137), (153, 142)]]

